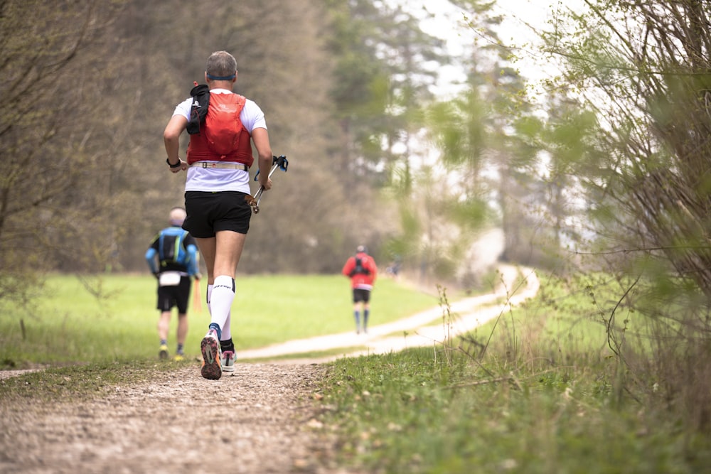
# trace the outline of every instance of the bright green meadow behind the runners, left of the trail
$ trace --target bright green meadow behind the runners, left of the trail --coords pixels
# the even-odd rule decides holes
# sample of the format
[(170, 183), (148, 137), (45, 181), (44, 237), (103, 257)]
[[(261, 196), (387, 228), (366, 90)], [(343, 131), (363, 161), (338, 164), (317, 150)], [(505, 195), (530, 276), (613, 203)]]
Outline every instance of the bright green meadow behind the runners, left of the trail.
[[(205, 291), (205, 282), (201, 282)], [(186, 355), (199, 357), (210, 323), (205, 306), (188, 310)], [(432, 295), (380, 279), (371, 301), (371, 324), (387, 323), (437, 306)], [(85, 279), (50, 276), (26, 307), (0, 302), (0, 367), (37, 363), (151, 360), (158, 350), (156, 281), (146, 275), (102, 275)], [(173, 309), (169, 347), (175, 347)], [(24, 328), (24, 335), (23, 330)], [(237, 278), (232, 336), (237, 350), (286, 340), (353, 330), (348, 280), (331, 276)]]

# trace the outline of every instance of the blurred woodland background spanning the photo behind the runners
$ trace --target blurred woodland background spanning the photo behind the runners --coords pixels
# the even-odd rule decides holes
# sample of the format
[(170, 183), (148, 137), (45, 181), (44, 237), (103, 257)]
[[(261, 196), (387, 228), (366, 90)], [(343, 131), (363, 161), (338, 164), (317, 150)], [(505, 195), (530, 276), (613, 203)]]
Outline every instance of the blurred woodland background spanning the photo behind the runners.
[[(708, 5), (553, 5), (533, 46), (501, 41), (494, 4), (444, 4), (457, 56), (417, 2), (1, 1), (0, 298), (43, 271), (146, 271), (183, 204), (162, 131), (215, 50), (289, 158), (241, 272), (337, 272), (362, 243), (473, 287), (494, 227), (510, 262), (653, 261), (711, 294)], [(557, 75), (533, 83), (525, 59)], [(444, 65), (466, 74), (451, 97)]]

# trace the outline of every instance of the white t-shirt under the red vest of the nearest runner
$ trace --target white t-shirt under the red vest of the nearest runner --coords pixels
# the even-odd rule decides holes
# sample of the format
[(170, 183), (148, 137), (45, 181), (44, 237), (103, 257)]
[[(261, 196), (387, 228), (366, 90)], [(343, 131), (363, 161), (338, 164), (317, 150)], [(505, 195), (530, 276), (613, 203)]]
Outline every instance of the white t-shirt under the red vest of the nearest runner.
[[(213, 89), (210, 94), (232, 94), (227, 89)], [(173, 116), (182, 115), (186, 120), (190, 120), (190, 108), (193, 98), (185, 99), (177, 105), (173, 111)], [(247, 99), (245, 108), (240, 113), (240, 121), (245, 129), (252, 134), (254, 129), (267, 129), (267, 122), (264, 120), (264, 112), (254, 101)], [(213, 161), (205, 160), (208, 163)], [(219, 163), (217, 161), (217, 163)], [(227, 168), (200, 168), (198, 166), (188, 168), (188, 177), (185, 181), (186, 191), (242, 191), (242, 193), (252, 194), (250, 190), (250, 173), (244, 170), (231, 170)]]

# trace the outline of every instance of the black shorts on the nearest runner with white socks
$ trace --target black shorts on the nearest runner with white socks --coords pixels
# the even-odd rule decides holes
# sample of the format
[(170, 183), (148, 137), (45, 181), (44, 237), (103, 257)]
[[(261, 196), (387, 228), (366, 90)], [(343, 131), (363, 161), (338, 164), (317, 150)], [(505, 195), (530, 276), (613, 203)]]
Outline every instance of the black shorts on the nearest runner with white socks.
[(215, 237), (220, 230), (246, 234), (250, 230), (252, 208), (239, 191), (186, 191), (185, 210), (188, 216), (183, 229), (198, 239)]

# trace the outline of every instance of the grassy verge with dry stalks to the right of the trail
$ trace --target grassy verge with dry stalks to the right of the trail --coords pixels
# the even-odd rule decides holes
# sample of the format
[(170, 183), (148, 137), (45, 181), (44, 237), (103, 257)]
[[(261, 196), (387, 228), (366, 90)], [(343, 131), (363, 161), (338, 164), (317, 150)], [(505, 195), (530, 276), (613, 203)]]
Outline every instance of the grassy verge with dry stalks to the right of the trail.
[(338, 465), (412, 474), (709, 472), (711, 436), (685, 426), (683, 409), (653, 379), (617, 370), (602, 324), (614, 294), (549, 282), (535, 301), (436, 354), (331, 363), (322, 421), (338, 437)]

